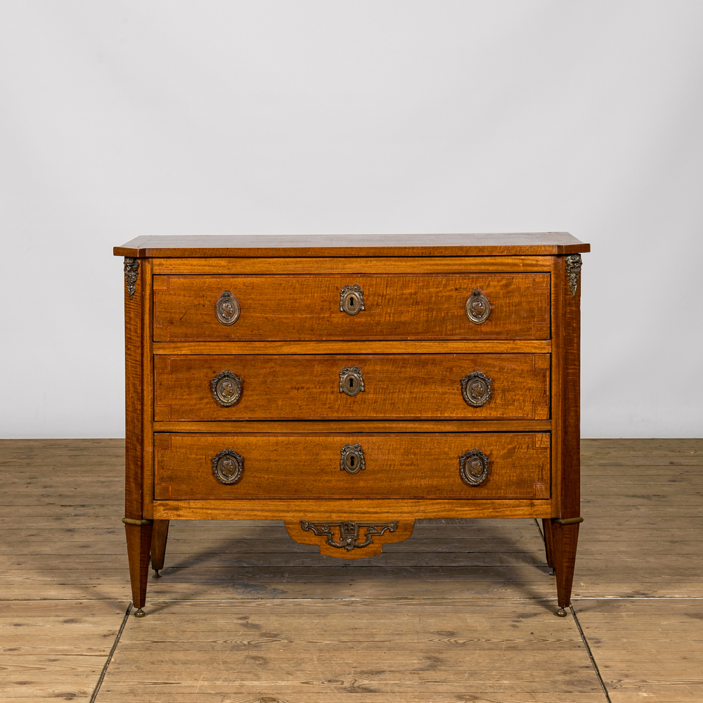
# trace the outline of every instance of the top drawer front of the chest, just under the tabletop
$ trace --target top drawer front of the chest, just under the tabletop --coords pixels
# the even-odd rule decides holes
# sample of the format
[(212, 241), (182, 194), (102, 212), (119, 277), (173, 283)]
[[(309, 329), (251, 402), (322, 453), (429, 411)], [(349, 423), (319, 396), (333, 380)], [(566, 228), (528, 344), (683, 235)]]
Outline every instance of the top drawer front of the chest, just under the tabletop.
[(153, 283), (156, 342), (550, 336), (548, 273), (154, 276)]

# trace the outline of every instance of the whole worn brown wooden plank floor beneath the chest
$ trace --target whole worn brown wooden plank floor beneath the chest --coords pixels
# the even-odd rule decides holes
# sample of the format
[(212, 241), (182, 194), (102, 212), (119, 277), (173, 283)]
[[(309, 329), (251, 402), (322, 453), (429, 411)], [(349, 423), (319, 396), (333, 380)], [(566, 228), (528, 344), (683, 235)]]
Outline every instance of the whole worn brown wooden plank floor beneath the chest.
[(567, 618), (534, 520), (421, 520), (348, 562), (172, 523), (127, 617), (122, 445), (0, 441), (3, 702), (703, 702), (701, 439), (583, 441)]

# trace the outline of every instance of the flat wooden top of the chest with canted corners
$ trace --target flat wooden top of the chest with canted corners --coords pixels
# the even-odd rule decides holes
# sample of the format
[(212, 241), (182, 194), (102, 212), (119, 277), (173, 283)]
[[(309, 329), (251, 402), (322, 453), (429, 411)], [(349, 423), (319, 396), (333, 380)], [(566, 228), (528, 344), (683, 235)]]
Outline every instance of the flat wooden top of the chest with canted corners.
[(588, 252), (568, 232), (508, 234), (328, 234), (143, 236), (121, 247), (124, 257), (437, 257), (549, 256)]

